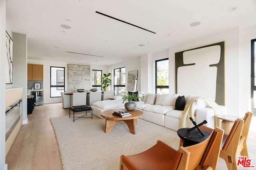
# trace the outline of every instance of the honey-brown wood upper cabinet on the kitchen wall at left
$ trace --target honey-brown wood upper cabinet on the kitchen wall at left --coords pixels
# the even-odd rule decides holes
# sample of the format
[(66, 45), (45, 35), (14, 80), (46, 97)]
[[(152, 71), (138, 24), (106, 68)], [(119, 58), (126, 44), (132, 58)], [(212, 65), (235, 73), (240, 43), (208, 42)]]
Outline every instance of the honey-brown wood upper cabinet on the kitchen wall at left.
[(28, 64), (28, 80), (43, 80), (44, 65)]

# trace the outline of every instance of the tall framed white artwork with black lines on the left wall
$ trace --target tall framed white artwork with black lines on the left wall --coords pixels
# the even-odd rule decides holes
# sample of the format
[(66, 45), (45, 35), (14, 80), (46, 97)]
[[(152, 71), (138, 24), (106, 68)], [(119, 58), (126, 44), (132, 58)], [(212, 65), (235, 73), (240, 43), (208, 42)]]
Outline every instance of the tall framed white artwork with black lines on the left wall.
[(12, 66), (13, 66), (13, 41), (6, 32), (6, 70), (5, 83), (12, 84)]

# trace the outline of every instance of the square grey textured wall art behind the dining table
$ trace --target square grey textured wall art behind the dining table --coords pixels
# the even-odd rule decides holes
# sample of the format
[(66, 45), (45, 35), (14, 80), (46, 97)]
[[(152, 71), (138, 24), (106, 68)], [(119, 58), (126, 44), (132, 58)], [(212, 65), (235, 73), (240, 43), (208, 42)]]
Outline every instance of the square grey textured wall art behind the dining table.
[(68, 90), (90, 89), (90, 66), (68, 64)]

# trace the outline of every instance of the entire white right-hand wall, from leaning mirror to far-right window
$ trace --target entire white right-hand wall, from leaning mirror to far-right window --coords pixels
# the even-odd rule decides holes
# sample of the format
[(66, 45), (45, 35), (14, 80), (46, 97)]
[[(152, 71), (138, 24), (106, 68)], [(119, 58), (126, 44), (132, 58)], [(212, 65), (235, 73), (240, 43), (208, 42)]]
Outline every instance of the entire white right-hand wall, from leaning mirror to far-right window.
[[(158, 53), (143, 55), (140, 66), (144, 74), (141, 81), (142, 86), (146, 87), (145, 91), (155, 92), (154, 62), (157, 59), (169, 57), (169, 93), (175, 93), (175, 53), (225, 41), (225, 106), (228, 107), (229, 115), (242, 117), (247, 111), (252, 111), (250, 100), (250, 43), (251, 39), (255, 38), (256, 25), (247, 28), (234, 28), (202, 39), (176, 45), (170, 47), (169, 51), (164, 50)], [(145, 75), (148, 77), (145, 77)], [(148, 84), (153, 85), (150, 86)]]

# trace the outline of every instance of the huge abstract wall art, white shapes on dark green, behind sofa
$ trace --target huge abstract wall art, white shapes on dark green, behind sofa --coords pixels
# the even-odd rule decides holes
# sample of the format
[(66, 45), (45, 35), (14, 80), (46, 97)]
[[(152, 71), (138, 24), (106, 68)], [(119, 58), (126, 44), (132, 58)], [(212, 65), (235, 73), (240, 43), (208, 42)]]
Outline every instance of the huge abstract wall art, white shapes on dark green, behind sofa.
[(224, 41), (175, 53), (176, 93), (225, 105)]

